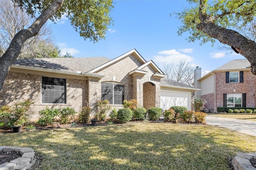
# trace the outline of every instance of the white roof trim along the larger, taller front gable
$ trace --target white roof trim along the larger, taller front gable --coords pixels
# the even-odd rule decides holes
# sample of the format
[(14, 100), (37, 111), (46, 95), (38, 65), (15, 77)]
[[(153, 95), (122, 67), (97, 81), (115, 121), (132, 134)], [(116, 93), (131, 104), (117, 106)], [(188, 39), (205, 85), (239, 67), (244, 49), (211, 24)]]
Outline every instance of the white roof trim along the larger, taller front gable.
[(140, 53), (138, 53), (138, 51), (136, 49), (132, 49), (131, 51), (128, 51), (127, 53), (124, 53), (123, 55), (120, 55), (119, 57), (116, 57), (115, 59), (108, 61), (107, 63), (104, 63), (104, 64), (90, 70), (89, 72), (94, 73), (99, 70), (102, 70), (102, 69), (110, 66), (111, 64), (114, 64), (114, 63), (124, 59), (125, 57), (127, 57), (131, 54), (133, 54), (142, 64), (146, 63), (146, 60), (140, 55)]

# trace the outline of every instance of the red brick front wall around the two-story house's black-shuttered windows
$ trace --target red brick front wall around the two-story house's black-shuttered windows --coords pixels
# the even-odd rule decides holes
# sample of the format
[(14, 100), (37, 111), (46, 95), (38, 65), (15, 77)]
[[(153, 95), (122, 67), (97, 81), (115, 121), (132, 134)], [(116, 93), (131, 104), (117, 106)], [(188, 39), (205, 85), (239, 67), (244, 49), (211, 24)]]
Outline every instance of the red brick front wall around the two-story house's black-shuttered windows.
[(246, 107), (255, 107), (255, 84), (256, 76), (249, 70), (244, 71), (243, 83), (226, 83), (226, 72), (216, 72), (216, 107), (223, 107), (224, 93), (246, 93)]

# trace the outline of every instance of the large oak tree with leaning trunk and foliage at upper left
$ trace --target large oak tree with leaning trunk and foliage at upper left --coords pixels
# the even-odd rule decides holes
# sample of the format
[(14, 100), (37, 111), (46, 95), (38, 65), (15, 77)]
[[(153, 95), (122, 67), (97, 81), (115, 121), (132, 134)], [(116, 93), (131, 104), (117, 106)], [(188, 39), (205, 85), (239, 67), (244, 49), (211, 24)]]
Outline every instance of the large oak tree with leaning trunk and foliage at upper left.
[[(40, 14), (27, 29), (20, 30), (12, 39), (8, 49), (0, 57), (0, 90), (4, 80), (17, 59), (27, 39), (38, 34), (48, 19), (59, 20), (66, 15), (74, 29), (84, 39), (96, 42), (104, 39), (108, 25), (112, 23), (109, 12), (112, 0), (12, 0), (14, 4), (32, 16)], [(65, 36), (65, 35), (63, 35)]]

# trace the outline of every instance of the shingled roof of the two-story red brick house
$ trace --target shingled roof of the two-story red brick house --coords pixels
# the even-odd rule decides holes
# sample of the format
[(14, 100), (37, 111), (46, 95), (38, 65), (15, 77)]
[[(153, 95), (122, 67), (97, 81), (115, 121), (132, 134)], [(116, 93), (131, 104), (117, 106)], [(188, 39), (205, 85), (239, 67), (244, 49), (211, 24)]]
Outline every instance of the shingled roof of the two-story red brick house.
[(251, 64), (247, 59), (232, 60), (214, 71), (250, 68)]

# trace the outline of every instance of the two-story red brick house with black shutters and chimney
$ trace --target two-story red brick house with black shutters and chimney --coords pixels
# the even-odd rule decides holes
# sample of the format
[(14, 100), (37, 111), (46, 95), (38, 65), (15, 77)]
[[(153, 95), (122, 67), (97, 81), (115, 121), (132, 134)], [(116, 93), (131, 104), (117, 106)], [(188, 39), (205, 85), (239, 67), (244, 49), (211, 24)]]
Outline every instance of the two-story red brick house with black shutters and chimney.
[(195, 98), (207, 101), (206, 107), (216, 112), (217, 107), (255, 107), (256, 76), (247, 59), (232, 60), (205, 76), (201, 68), (194, 70)]

